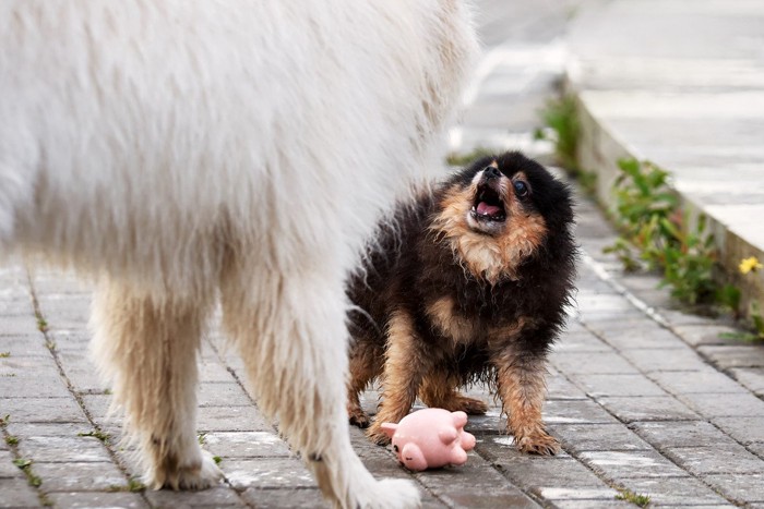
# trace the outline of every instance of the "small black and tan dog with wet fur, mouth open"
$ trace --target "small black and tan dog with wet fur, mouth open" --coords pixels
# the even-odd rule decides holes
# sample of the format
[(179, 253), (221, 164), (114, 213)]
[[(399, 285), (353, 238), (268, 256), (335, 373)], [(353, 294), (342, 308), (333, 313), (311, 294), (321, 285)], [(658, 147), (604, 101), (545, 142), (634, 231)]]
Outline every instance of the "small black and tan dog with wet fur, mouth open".
[[(459, 386), (491, 385), (520, 450), (559, 451), (541, 421), (546, 357), (564, 325), (576, 247), (570, 190), (518, 153), (485, 157), (380, 226), (348, 293), (348, 415), (385, 444), (417, 396), (485, 413)], [(377, 419), (359, 392), (382, 381)]]

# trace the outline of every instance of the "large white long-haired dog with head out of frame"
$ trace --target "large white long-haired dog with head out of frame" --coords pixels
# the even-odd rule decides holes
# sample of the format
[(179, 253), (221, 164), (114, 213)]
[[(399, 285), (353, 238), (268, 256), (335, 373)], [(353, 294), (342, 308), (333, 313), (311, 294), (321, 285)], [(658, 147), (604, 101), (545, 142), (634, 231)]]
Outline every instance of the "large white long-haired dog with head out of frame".
[(219, 300), (324, 495), (418, 502), (350, 447), (344, 279), (437, 166), (475, 49), (459, 0), (0, 3), (0, 252), (97, 277), (95, 353), (153, 487), (222, 475), (195, 434)]

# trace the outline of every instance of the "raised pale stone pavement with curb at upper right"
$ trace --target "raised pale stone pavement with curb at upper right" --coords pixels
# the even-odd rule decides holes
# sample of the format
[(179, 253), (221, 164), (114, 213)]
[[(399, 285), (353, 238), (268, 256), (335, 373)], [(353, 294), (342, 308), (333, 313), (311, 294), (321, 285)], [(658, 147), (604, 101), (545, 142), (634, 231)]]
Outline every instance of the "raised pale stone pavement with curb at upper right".
[(764, 2), (594, 0), (570, 27), (568, 86), (578, 98), (580, 159), (610, 189), (622, 157), (668, 170), (689, 209), (705, 214), (721, 264), (745, 300), (764, 275)]

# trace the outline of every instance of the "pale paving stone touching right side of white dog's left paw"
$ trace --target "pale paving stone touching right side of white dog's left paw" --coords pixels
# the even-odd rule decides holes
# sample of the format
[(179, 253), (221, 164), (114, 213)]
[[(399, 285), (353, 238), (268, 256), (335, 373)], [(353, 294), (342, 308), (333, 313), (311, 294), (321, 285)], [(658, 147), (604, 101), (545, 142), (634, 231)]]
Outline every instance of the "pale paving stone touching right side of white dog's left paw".
[(297, 458), (227, 460), (222, 465), (226, 480), (237, 490), (258, 488), (311, 488), (315, 481)]

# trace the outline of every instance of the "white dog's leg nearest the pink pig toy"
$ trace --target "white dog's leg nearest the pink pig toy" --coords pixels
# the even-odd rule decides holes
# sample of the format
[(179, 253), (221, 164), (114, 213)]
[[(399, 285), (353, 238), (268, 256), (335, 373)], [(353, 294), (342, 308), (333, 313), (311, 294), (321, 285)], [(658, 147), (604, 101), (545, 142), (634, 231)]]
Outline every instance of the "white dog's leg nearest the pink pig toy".
[[(225, 326), (261, 410), (278, 417), (280, 432), (329, 500), (344, 508), (418, 507), (410, 482), (374, 481), (350, 445), (345, 292), (337, 279), (288, 271), (267, 279), (234, 275), (222, 287)], [(250, 288), (241, 286), (248, 281)]]

